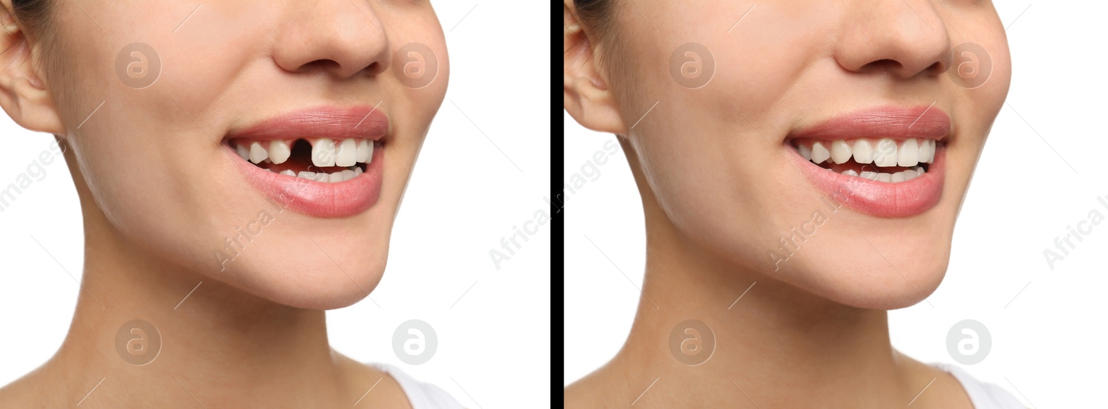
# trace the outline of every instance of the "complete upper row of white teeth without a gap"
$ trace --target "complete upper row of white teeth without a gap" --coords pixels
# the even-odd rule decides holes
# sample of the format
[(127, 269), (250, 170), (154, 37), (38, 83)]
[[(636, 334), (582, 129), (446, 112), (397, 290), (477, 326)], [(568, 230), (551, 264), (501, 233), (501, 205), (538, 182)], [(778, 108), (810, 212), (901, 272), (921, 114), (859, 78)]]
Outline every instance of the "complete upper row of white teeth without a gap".
[(919, 163), (935, 161), (935, 141), (904, 140), (900, 146), (889, 137), (880, 140), (856, 139), (851, 141), (815, 141), (797, 146), (800, 156), (817, 164), (831, 160), (843, 163), (854, 157), (858, 163), (872, 163), (876, 166), (915, 166)]

